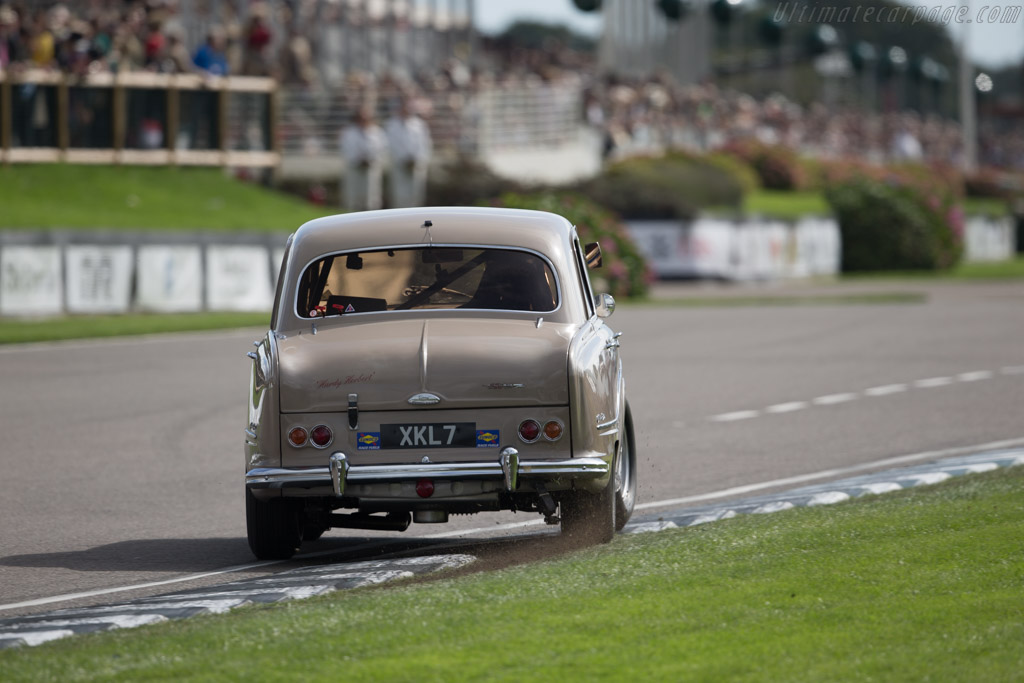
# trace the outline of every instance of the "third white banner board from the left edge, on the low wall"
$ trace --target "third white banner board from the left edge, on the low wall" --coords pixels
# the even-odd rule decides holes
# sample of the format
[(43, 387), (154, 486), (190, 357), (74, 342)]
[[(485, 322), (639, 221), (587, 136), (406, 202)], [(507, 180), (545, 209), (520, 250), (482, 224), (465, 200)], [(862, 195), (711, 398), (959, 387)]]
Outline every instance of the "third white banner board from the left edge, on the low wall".
[(141, 310), (195, 312), (203, 308), (203, 253), (199, 246), (138, 248), (135, 303)]

